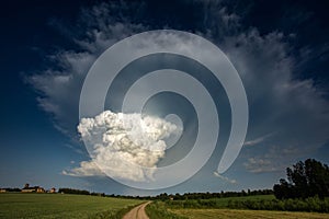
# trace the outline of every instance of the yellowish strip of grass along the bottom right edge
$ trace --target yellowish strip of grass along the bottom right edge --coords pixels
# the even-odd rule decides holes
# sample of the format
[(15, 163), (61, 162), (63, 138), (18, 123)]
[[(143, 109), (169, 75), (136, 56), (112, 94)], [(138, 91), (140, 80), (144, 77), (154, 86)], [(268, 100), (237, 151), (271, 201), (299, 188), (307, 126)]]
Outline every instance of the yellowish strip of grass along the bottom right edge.
[(186, 218), (220, 218), (220, 219), (329, 219), (328, 214), (317, 212), (287, 212), (269, 210), (235, 210), (235, 209), (173, 209), (170, 210)]

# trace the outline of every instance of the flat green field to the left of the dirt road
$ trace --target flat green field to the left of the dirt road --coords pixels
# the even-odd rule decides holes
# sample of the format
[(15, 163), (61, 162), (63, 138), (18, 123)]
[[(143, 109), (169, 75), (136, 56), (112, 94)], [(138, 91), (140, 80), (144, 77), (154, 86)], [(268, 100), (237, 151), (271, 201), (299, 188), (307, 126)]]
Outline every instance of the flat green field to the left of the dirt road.
[(65, 194), (0, 194), (0, 218), (102, 218), (141, 200)]

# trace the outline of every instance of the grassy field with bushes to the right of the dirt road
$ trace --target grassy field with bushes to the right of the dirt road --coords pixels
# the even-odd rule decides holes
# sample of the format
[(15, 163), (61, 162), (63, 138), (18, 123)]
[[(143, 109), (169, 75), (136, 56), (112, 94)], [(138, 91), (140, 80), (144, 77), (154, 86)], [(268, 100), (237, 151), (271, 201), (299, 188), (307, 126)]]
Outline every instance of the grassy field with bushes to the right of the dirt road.
[[(314, 200), (314, 201), (313, 201)], [(314, 219), (314, 218), (328, 218), (329, 214), (321, 214), (321, 208), (309, 208), (311, 210), (306, 210), (304, 212), (298, 211), (298, 208), (292, 207), (294, 211), (284, 210), (269, 210), (273, 203), (277, 203), (273, 195), (258, 195), (258, 196), (242, 196), (242, 197), (226, 197), (226, 198), (211, 198), (211, 199), (185, 199), (185, 200), (166, 200), (166, 201), (154, 201), (147, 207), (150, 215), (156, 215), (157, 219), (169, 219), (169, 218), (265, 218), (265, 219)], [(318, 198), (313, 198), (309, 200), (287, 200), (283, 203), (284, 205), (295, 206), (300, 205), (314, 205), (320, 206), (320, 204), (326, 204), (327, 200), (319, 200)], [(231, 203), (231, 204), (230, 204)], [(264, 209), (252, 209), (246, 208), (246, 206), (240, 206), (239, 204), (247, 203), (258, 204)], [(235, 204), (235, 205), (232, 205)], [(298, 206), (297, 205), (297, 206)], [(327, 206), (327, 204), (326, 204)], [(325, 207), (326, 207), (325, 206)], [(324, 207), (324, 206), (322, 206)], [(269, 209), (268, 209), (269, 208)], [(306, 209), (306, 208), (303, 208)], [(320, 212), (315, 212), (315, 211)], [(311, 211), (311, 212), (309, 212)], [(328, 212), (328, 211), (324, 211)], [(174, 214), (175, 216), (172, 216)]]

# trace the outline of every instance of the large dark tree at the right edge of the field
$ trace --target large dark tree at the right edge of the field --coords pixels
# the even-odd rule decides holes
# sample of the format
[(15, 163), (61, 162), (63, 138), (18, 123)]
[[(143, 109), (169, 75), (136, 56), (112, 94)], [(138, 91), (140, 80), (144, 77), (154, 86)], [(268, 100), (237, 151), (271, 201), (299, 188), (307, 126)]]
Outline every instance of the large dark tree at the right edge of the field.
[(315, 159), (297, 162), (286, 169), (287, 181), (281, 178), (273, 187), (279, 199), (329, 197), (329, 168)]

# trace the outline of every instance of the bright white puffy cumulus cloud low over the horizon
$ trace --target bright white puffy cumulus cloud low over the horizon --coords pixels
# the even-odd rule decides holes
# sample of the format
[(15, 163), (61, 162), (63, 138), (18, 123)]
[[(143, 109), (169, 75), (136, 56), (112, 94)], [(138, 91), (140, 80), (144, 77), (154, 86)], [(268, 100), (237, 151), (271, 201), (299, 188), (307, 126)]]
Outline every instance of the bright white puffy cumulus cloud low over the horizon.
[(64, 174), (106, 173), (115, 178), (143, 182), (152, 180), (158, 161), (164, 157), (164, 139), (181, 132), (181, 127), (157, 117), (105, 111), (94, 118), (82, 118), (78, 130), (93, 160), (83, 161)]

